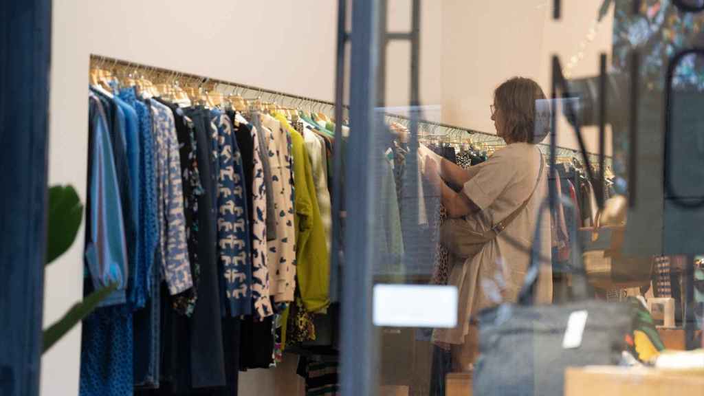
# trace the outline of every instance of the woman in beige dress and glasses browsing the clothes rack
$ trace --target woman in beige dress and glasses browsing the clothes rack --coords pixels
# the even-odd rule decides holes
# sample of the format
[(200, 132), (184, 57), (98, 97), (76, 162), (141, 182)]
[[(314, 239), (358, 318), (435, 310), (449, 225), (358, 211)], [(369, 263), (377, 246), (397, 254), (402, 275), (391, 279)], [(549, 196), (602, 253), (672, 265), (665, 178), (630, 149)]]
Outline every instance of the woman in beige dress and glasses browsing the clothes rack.
[[(445, 159), (438, 166), (436, 160), (425, 157), (424, 173), (441, 189), (448, 218), (461, 218), (463, 228), (492, 235), (473, 256), (451, 254), (448, 284), (459, 290), (458, 326), (438, 329), (433, 338), (436, 344), (451, 347), (453, 371), (468, 371), (477, 354), (477, 328), (470, 325), (470, 316), (501, 302), (514, 302), (529, 266), (539, 209), (548, 191), (547, 167), (536, 146), (548, 132), (549, 110), (536, 112), (548, 108), (545, 99), (533, 80), (511, 78), (496, 88), (491, 105), (491, 120), (506, 147), (469, 169)], [(541, 266), (538, 303), (552, 300), (549, 216), (545, 211), (539, 225), (539, 252), (547, 265)], [(486, 233), (501, 221), (507, 223), (501, 233)], [(451, 245), (463, 237), (467, 235), (456, 232), (444, 235), (442, 242), (452, 252)]]

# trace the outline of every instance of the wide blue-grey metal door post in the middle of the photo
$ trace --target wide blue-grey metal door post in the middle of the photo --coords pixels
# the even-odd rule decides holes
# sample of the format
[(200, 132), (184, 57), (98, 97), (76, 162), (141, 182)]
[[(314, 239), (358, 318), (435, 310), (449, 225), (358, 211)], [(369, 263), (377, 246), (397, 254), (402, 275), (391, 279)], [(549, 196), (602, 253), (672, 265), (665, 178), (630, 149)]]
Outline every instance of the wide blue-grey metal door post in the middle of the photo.
[[(351, 128), (346, 163), (347, 222), (345, 262), (342, 284), (341, 318), (341, 391), (343, 395), (375, 395), (376, 371), (374, 332), (372, 328), (372, 225), (367, 216), (373, 213), (374, 173), (370, 161), (375, 130), (374, 105), (377, 92), (372, 89), (378, 61), (377, 0), (355, 1), (352, 10), (352, 62), (350, 89)], [(339, 104), (338, 104), (339, 106)], [(338, 120), (339, 122), (339, 120)], [(339, 129), (339, 128), (338, 128)], [(337, 144), (339, 145), (339, 143)], [(336, 180), (339, 183), (339, 180)]]

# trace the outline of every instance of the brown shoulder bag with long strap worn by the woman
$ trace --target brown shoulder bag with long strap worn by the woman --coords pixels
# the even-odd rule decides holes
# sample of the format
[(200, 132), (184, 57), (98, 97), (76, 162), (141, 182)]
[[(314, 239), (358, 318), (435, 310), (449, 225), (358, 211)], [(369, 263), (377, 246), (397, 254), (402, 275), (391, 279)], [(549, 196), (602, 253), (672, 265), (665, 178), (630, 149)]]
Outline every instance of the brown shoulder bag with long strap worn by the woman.
[(508, 216), (506, 216), (502, 221), (499, 221), (484, 233), (479, 233), (472, 230), (467, 221), (464, 218), (448, 218), (440, 227), (440, 242), (448, 249), (448, 252), (453, 254), (453, 256), (460, 259), (468, 259), (473, 257), (477, 253), (482, 251), (482, 247), (486, 242), (494, 240), (498, 237), (503, 230), (508, 227), (508, 225), (521, 214), (523, 209), (528, 205), (528, 202), (538, 190), (538, 185), (540, 184), (540, 179), (543, 176), (543, 154), (540, 154), (540, 171), (538, 171), (538, 180), (535, 182), (535, 187), (530, 193), (528, 198), (517, 207), (517, 209)]

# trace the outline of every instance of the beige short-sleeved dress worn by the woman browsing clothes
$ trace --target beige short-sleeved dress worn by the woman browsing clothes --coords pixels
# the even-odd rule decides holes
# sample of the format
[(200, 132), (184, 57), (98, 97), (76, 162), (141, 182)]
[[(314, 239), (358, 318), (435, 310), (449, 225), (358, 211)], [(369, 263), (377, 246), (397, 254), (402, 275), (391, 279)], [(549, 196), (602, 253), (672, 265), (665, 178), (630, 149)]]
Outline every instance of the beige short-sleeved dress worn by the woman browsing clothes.
[[(463, 192), (481, 211), (465, 221), (473, 230), (484, 232), (515, 211), (531, 194), (540, 171), (538, 147), (514, 143), (494, 153), (489, 160), (470, 167), (470, 180)], [(548, 167), (522, 213), (496, 239), (463, 261), (451, 257), (448, 285), (458, 287), (458, 326), (437, 329), (435, 342), (463, 344), (470, 331), (470, 315), (501, 302), (515, 302), (530, 261), (538, 211), (548, 194)], [(552, 302), (550, 211), (543, 212), (540, 225), (542, 261), (536, 302)], [(513, 242), (511, 242), (513, 240)]]

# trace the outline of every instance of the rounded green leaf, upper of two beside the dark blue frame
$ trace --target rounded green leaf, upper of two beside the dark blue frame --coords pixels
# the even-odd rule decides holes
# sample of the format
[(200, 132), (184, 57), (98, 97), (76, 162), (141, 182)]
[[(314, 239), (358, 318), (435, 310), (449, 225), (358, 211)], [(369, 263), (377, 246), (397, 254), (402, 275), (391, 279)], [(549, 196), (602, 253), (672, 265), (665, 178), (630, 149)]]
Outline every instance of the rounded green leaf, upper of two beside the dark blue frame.
[(70, 186), (49, 188), (49, 220), (46, 237), (46, 264), (68, 250), (76, 239), (83, 218), (83, 204)]

